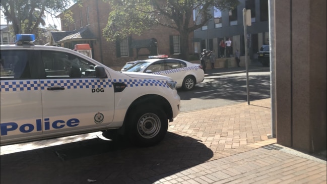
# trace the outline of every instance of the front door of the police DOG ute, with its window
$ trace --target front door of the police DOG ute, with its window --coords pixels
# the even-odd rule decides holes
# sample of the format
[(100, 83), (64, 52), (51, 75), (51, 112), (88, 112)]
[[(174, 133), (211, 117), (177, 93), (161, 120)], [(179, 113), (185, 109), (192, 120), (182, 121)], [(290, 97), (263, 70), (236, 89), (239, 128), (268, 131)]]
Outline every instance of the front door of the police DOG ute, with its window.
[(96, 64), (73, 53), (41, 50), (43, 134), (108, 126), (114, 114), (111, 79), (96, 78)]

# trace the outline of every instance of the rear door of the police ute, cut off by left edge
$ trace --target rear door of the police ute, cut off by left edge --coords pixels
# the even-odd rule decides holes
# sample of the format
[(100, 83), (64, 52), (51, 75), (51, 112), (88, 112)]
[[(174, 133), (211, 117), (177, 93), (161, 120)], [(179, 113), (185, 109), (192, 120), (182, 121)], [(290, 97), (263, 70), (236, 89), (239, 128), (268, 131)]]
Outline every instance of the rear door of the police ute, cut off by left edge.
[(33, 50), (1, 50), (1, 143), (42, 134), (41, 89)]

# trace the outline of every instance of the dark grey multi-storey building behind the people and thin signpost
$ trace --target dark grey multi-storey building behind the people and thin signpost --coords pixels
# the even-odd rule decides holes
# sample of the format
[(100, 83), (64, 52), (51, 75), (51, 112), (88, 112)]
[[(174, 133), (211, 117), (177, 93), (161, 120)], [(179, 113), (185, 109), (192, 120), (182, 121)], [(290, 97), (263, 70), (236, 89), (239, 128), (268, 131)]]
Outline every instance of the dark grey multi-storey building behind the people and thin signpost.
[[(213, 19), (207, 25), (194, 31), (194, 52), (202, 49), (215, 49), (221, 55), (219, 43), (228, 38), (232, 41), (232, 53), (236, 49), (245, 54), (243, 9), (251, 10), (251, 26), (247, 27), (247, 46), (250, 58), (256, 58), (261, 45), (269, 44), (268, 0), (239, 0), (237, 9), (220, 11), (212, 8)], [(195, 20), (195, 19), (194, 19)], [(200, 20), (200, 19), (198, 19)]]

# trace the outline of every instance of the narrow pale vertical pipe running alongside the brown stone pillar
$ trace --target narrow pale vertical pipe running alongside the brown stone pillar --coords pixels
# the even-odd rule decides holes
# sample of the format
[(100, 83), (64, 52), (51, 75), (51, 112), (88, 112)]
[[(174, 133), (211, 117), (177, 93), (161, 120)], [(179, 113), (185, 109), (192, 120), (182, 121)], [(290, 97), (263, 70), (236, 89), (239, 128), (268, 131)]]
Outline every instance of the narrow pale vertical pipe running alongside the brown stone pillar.
[(270, 96), (272, 138), (276, 138), (276, 52), (275, 52), (275, 0), (269, 1), (269, 44), (270, 44)]

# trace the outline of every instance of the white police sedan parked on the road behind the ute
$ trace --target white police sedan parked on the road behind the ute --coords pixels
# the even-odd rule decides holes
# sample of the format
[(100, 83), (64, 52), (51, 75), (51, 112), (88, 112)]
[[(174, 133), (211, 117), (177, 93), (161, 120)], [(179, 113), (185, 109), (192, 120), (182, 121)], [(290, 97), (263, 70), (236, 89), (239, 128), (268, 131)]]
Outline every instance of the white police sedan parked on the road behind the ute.
[(149, 59), (138, 60), (124, 72), (142, 72), (164, 75), (177, 82), (177, 88), (191, 90), (195, 84), (203, 82), (205, 73), (200, 64), (192, 64), (185, 60), (168, 58), (168, 55), (149, 56)]

